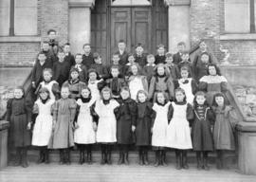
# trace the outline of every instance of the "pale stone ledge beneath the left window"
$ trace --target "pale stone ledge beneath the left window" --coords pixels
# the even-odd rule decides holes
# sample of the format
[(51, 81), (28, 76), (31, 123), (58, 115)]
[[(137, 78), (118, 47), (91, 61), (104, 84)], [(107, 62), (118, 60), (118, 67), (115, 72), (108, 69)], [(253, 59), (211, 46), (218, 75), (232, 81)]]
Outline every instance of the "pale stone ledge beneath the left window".
[(40, 43), (41, 37), (33, 36), (13, 36), (13, 37), (0, 37), (0, 43)]

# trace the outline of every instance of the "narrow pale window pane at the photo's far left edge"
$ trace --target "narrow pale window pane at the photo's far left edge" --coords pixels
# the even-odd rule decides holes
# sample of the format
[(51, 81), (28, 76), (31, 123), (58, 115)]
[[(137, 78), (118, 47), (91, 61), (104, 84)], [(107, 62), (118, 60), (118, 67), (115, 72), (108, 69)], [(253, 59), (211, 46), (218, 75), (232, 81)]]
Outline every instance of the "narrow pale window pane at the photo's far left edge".
[(0, 36), (9, 35), (9, 0), (0, 0)]

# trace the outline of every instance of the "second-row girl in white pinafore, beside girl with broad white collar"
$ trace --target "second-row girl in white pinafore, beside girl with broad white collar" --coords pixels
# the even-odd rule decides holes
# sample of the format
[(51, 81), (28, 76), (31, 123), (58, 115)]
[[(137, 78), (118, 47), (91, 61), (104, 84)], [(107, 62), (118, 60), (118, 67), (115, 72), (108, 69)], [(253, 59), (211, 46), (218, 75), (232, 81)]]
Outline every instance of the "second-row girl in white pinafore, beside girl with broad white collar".
[(197, 84), (192, 78), (189, 78), (190, 73), (187, 66), (181, 67), (180, 75), (181, 79), (177, 81), (176, 87), (182, 88), (185, 91), (188, 103), (193, 104), (193, 98), (197, 90)]

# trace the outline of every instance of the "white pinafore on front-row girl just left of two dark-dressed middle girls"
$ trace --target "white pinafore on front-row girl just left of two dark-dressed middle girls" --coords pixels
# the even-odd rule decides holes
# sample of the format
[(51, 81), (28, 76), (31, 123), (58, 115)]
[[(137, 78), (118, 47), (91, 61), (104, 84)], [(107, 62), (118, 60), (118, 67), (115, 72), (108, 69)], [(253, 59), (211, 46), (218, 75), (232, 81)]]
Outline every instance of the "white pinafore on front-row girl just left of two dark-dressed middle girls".
[(100, 143), (117, 142), (117, 119), (114, 109), (119, 106), (116, 100), (110, 100), (104, 104), (102, 100), (97, 100), (95, 112), (99, 115), (98, 129), (96, 140)]

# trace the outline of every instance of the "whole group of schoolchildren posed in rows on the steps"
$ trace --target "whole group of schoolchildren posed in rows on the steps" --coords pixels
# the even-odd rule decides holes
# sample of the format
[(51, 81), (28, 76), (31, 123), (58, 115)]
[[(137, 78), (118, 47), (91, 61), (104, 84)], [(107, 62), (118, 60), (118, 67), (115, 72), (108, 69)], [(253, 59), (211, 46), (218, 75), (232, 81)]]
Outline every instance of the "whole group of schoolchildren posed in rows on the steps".
[(187, 152), (193, 150), (197, 169), (209, 170), (208, 154), (216, 150), (217, 168), (223, 168), (224, 151), (235, 149), (236, 119), (225, 96), (228, 82), (204, 42), (191, 62), (184, 43), (174, 55), (159, 45), (154, 56), (145, 55), (140, 44), (129, 54), (119, 41), (112, 64), (104, 65), (89, 44), (84, 54), (71, 55), (70, 45), (61, 48), (55, 33), (48, 32), (33, 67), (34, 103), (22, 87), (8, 102), (15, 165), (27, 167), (30, 144), (40, 151), (38, 163), (49, 163), (49, 149), (58, 149), (60, 164), (70, 164), (76, 145), (79, 163), (91, 164), (92, 147), (99, 143), (101, 164), (112, 164), (118, 144), (118, 164), (129, 164), (135, 145), (139, 165), (149, 164), (151, 149), (154, 165), (166, 165), (166, 152), (174, 149), (176, 169), (188, 169)]

